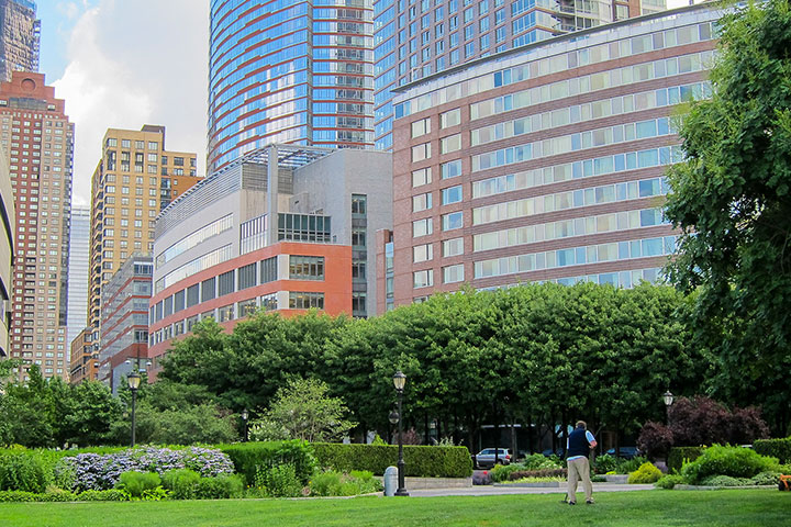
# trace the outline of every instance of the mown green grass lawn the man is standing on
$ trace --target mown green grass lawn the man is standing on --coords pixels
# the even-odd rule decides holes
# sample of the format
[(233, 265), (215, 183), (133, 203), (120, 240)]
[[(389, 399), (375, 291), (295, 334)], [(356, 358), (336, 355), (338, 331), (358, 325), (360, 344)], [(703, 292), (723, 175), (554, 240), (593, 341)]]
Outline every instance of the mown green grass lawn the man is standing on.
[(2, 503), (0, 526), (791, 526), (791, 493), (635, 491), (484, 497), (357, 497), (124, 503)]

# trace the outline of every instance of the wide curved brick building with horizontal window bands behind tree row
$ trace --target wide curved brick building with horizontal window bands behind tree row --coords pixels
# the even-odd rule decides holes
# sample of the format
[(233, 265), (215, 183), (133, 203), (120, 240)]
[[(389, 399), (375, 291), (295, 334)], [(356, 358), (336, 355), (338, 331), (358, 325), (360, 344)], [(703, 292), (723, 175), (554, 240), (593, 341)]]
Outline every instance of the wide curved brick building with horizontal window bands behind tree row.
[(659, 280), (678, 235), (661, 213), (683, 157), (671, 116), (711, 93), (721, 14), (613, 22), (404, 86), (378, 311), (465, 282)]

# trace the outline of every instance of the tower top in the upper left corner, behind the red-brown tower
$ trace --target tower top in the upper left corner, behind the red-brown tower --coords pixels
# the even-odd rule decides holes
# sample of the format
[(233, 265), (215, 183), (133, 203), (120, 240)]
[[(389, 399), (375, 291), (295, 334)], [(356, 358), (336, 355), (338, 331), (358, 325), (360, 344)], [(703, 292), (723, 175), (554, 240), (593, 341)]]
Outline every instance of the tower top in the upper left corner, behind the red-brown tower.
[(38, 71), (35, 8), (30, 0), (0, 0), (0, 80), (11, 80), (11, 71)]

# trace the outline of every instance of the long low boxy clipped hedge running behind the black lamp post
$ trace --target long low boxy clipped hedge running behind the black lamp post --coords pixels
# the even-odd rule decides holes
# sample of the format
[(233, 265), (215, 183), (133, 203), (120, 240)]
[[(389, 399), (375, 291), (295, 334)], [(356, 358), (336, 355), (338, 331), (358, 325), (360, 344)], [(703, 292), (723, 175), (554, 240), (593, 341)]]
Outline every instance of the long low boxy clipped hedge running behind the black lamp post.
[[(368, 470), (383, 474), (398, 462), (398, 447), (391, 445), (311, 445), (319, 464), (338, 472)], [(419, 478), (468, 478), (472, 475), (472, 459), (466, 447), (417, 447), (404, 449), (406, 475)]]

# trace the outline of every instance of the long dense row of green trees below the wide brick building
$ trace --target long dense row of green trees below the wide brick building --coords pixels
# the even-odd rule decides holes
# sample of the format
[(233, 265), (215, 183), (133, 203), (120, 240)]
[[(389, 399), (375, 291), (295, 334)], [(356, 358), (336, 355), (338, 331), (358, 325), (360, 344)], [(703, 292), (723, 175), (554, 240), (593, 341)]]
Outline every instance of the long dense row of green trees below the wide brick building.
[(200, 384), (235, 412), (261, 412), (289, 380), (315, 378), (361, 430), (386, 435), (401, 369), (408, 423), (436, 419), (457, 439), (514, 419), (637, 430), (661, 416), (665, 390), (691, 395), (702, 383), (688, 304), (667, 287), (546, 283), (437, 294), (367, 321), (257, 314), (232, 334), (208, 321), (174, 346), (160, 377)]

